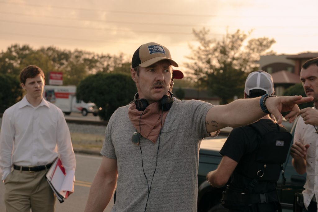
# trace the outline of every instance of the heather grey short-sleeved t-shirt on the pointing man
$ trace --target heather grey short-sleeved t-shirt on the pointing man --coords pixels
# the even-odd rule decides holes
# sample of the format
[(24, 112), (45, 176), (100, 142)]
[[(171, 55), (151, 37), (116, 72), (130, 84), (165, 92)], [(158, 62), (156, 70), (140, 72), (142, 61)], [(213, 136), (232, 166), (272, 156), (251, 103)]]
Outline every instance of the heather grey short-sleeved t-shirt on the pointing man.
[(198, 152), (201, 140), (209, 136), (205, 115), (212, 106), (199, 100), (176, 99), (156, 144), (141, 138), (142, 154), (131, 141), (135, 127), (128, 117), (129, 105), (114, 112), (100, 152), (117, 159), (117, 194), (111, 211), (144, 211), (148, 186), (142, 163), (150, 187), (158, 145), (147, 211), (197, 211)]

